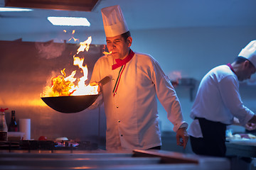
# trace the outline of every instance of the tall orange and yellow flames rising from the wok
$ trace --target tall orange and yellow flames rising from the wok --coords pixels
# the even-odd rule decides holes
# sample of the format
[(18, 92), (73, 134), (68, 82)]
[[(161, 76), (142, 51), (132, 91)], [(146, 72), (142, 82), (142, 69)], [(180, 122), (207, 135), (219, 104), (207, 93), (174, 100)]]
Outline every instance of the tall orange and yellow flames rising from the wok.
[[(74, 38), (74, 40), (77, 39)], [(91, 37), (89, 37), (84, 42), (80, 42), (80, 47), (78, 48), (76, 55), (78, 55), (79, 52), (83, 52), (85, 50), (88, 51), (91, 42)], [(67, 76), (65, 74), (65, 69), (63, 69), (60, 71), (61, 75), (51, 78), (51, 86), (46, 86), (41, 96), (80, 96), (98, 94), (97, 85), (90, 86), (85, 84), (85, 81), (87, 80), (88, 69), (87, 65), (85, 65), (85, 67), (82, 65), (83, 62), (84, 58), (76, 57), (73, 55), (73, 65), (77, 65), (80, 69), (82, 69), (83, 76), (80, 78), (75, 78), (76, 70)]]

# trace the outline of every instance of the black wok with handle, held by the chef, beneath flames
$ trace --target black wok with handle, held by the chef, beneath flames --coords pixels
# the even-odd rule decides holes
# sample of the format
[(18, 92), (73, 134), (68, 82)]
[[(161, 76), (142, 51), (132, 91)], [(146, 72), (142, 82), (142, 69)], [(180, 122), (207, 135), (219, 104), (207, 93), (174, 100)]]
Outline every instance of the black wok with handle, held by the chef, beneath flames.
[[(103, 86), (110, 81), (110, 77), (103, 78), (99, 83)], [(100, 94), (81, 95), (81, 96), (56, 96), (41, 97), (41, 99), (55, 111), (61, 113), (78, 113), (85, 110), (96, 101)]]

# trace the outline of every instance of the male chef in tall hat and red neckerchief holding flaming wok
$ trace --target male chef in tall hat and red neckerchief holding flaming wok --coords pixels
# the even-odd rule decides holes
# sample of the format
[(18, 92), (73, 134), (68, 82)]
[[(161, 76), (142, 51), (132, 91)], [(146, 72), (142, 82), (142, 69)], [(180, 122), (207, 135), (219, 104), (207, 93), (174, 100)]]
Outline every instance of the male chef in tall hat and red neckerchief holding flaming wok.
[(156, 96), (174, 124), (177, 145), (185, 148), (188, 124), (183, 120), (176, 91), (159, 63), (130, 49), (132, 37), (119, 6), (102, 8), (102, 19), (110, 54), (97, 60), (90, 82), (111, 77), (102, 86), (106, 149), (161, 148)]

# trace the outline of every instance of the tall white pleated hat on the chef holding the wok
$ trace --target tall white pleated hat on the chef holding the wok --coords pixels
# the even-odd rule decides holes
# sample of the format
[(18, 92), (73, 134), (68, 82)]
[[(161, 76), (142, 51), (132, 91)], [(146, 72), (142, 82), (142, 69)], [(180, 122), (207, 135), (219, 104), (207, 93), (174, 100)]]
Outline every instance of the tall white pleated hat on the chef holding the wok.
[(102, 8), (101, 11), (106, 37), (121, 35), (129, 30), (119, 5)]

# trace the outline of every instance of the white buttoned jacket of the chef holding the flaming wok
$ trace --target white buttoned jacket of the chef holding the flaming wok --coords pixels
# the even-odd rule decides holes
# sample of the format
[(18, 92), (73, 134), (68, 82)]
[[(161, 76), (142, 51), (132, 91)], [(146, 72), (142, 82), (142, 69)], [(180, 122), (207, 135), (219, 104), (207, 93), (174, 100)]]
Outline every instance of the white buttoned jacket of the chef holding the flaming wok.
[(182, 124), (188, 126), (183, 121), (174, 87), (153, 57), (135, 52), (123, 69), (115, 95), (113, 89), (120, 67), (112, 70), (113, 64), (116, 63), (111, 55), (100, 57), (90, 80), (98, 82), (106, 76), (112, 80), (102, 86), (106, 149), (149, 149), (161, 145), (156, 96), (175, 132)]

